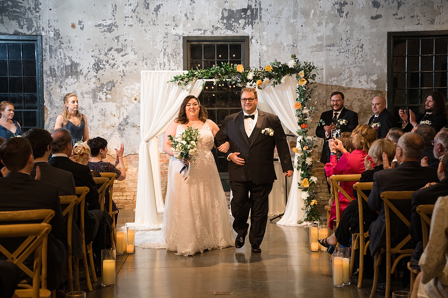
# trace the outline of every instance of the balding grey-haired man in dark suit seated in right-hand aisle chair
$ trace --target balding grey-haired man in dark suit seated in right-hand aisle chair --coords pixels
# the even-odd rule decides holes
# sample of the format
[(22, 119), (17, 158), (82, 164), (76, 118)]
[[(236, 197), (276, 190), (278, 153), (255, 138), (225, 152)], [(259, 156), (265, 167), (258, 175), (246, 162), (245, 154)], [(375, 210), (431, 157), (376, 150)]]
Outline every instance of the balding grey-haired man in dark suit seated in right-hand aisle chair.
[[(380, 213), (369, 228), (369, 248), (372, 256), (375, 256), (375, 253), (386, 245), (386, 217), (384, 202), (380, 197), (381, 193), (385, 191), (415, 191), (425, 186), (428, 182), (438, 181), (435, 168), (422, 167), (417, 162), (422, 155), (424, 146), (425, 142), (420, 135), (412, 132), (403, 134), (398, 140), (396, 147), (395, 157), (399, 164), (398, 168), (384, 169), (383, 171), (375, 172), (373, 176), (373, 188), (367, 203), (371, 210), (380, 211)], [(384, 164), (384, 168), (386, 168), (386, 164)], [(393, 204), (408, 220), (411, 219), (409, 202), (393, 201)], [(392, 247), (394, 247), (408, 235), (409, 228), (392, 212), (390, 226)], [(415, 244), (411, 241), (404, 248), (414, 248)], [(383, 260), (386, 259), (383, 258)], [(385, 293), (385, 271), (385, 266), (382, 266), (377, 288), (379, 294)], [(406, 270), (406, 272), (410, 274), (409, 271)], [(403, 280), (405, 280), (405, 277)]]

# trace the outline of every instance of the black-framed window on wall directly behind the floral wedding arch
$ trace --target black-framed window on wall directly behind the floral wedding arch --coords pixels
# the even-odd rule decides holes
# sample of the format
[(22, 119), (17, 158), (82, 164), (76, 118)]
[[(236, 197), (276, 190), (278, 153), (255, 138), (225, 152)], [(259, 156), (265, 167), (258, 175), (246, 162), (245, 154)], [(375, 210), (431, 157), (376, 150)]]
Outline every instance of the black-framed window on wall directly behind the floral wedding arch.
[[(249, 36), (185, 36), (183, 40), (184, 69), (205, 69), (221, 63), (249, 67)], [(207, 108), (208, 118), (221, 126), (227, 115), (241, 111), (241, 87), (207, 81), (198, 99)], [(219, 172), (228, 172), (228, 162), (221, 153)], [(222, 175), (221, 175), (222, 176)], [(225, 176), (225, 175), (224, 175)]]

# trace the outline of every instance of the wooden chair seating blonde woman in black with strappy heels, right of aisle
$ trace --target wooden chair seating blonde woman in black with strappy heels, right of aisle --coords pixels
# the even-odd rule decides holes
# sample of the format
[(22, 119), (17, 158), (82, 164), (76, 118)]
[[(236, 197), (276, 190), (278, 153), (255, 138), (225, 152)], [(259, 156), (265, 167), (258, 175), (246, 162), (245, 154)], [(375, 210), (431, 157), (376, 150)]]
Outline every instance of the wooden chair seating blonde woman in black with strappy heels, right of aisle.
[(350, 276), (353, 273), (353, 264), (355, 260), (354, 251), (359, 248), (359, 274), (358, 274), (358, 288), (362, 287), (362, 275), (364, 270), (364, 256), (367, 254), (369, 242), (366, 238), (369, 237), (369, 231), (364, 231), (364, 214), (362, 208), (362, 200), (368, 201), (369, 198), (363, 190), (371, 190), (373, 182), (358, 182), (353, 185), (353, 189), (358, 193), (358, 213), (359, 213), (359, 233), (353, 233), (352, 236), (352, 256), (350, 262)]

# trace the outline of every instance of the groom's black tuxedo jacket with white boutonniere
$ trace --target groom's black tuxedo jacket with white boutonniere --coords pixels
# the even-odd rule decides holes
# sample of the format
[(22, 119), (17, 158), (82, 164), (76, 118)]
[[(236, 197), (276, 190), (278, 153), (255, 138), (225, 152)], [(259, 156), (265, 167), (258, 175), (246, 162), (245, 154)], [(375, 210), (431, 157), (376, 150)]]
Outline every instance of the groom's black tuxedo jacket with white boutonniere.
[[(288, 142), (279, 118), (271, 113), (258, 111), (254, 132), (247, 137), (244, 129), (244, 113), (239, 112), (224, 118), (221, 129), (216, 134), (216, 146), (228, 141), (230, 149), (225, 154), (240, 152), (246, 164), (239, 166), (233, 161), (228, 164), (229, 181), (252, 181), (254, 184), (274, 183), (274, 148), (277, 146), (283, 172), (292, 171), (293, 163)], [(274, 135), (262, 134), (265, 128), (272, 128)], [(250, 140), (250, 141), (249, 141)]]

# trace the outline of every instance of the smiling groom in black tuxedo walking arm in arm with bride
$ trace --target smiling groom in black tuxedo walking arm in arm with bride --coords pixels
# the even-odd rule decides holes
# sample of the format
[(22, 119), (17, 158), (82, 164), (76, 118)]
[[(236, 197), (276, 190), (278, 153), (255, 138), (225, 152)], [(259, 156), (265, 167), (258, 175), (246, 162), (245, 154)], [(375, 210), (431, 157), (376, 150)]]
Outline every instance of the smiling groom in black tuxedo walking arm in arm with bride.
[(257, 90), (242, 88), (243, 111), (224, 118), (215, 139), (218, 147), (226, 141), (230, 143), (227, 159), (233, 192), (230, 204), (235, 218), (233, 229), (238, 233), (235, 247), (244, 245), (250, 210), (249, 241), (252, 252), (261, 252), (260, 244), (266, 231), (268, 196), (276, 180), (273, 161), (276, 146), (284, 176), (293, 175), (291, 154), (279, 118), (258, 110), (257, 104)]

